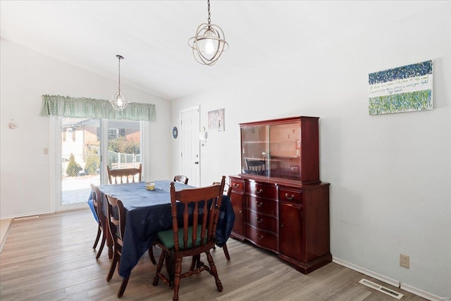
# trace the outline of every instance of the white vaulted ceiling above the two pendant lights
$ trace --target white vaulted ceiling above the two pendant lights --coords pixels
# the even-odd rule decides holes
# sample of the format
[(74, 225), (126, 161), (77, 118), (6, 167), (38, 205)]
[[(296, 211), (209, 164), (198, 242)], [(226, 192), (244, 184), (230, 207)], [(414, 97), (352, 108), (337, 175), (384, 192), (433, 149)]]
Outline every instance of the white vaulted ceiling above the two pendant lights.
[[(421, 13), (440, 1), (219, 1), (230, 48), (202, 66), (187, 40), (206, 1), (0, 1), (1, 39), (173, 100)], [(421, 20), (419, 20), (421, 21)]]

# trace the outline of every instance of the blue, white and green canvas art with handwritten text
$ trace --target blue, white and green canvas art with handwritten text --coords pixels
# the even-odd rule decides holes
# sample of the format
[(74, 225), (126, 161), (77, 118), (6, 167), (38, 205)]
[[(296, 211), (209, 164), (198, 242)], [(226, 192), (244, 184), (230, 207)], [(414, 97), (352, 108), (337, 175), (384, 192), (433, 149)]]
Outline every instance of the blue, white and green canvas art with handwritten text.
[(431, 110), (433, 63), (369, 73), (369, 114)]

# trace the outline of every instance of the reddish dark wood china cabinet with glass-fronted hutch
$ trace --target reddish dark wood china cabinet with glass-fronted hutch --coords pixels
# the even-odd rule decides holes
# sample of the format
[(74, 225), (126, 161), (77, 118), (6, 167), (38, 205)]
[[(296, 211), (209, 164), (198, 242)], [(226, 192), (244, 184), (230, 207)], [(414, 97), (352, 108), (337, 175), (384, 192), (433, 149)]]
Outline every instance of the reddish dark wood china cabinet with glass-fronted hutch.
[(230, 176), (230, 235), (308, 274), (332, 261), (329, 184), (319, 180), (319, 118), (240, 123), (242, 173)]

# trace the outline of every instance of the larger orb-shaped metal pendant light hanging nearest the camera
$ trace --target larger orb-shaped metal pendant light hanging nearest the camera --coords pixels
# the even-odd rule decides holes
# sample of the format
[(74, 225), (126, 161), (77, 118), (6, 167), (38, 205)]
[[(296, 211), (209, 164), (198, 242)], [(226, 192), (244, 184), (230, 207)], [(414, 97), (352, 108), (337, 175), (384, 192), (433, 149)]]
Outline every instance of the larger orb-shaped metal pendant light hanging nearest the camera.
[(192, 54), (197, 62), (211, 66), (218, 61), (219, 56), (228, 49), (224, 32), (218, 25), (211, 24), (210, 0), (208, 4), (208, 24), (202, 23), (197, 27), (196, 35), (188, 39), (188, 45), (192, 48)]

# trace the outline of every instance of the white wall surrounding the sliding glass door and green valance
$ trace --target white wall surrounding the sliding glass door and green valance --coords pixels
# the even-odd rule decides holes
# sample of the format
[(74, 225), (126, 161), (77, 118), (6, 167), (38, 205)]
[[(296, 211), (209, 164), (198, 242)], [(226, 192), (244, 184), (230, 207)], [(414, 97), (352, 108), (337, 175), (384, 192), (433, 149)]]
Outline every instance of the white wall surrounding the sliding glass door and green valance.
[[(68, 63), (1, 39), (1, 219), (49, 213), (50, 171), (49, 118), (39, 116), (42, 94), (110, 99), (117, 82), (89, 73)], [(147, 145), (151, 178), (169, 178), (171, 104), (129, 87), (122, 90), (133, 102), (156, 104), (156, 122), (150, 124)], [(16, 130), (8, 123), (14, 119)], [(168, 132), (168, 135), (161, 133)], [(151, 166), (149, 168), (149, 166)]]

